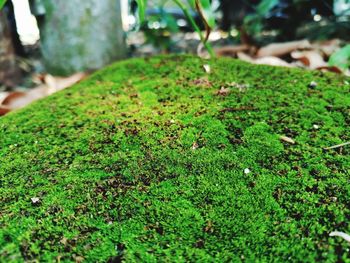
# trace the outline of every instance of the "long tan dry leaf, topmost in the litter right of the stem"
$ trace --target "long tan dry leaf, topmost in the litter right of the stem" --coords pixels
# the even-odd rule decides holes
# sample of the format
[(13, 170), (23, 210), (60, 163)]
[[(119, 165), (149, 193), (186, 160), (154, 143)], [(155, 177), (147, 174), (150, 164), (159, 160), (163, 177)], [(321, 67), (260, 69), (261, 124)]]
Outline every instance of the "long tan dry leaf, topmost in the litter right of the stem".
[(274, 43), (274, 44), (270, 44), (260, 48), (257, 53), (257, 57), (259, 58), (267, 57), (267, 56), (280, 57), (283, 55), (287, 55), (294, 50), (305, 49), (310, 47), (311, 47), (311, 44), (308, 40), (291, 41), (291, 42), (285, 42), (285, 43)]

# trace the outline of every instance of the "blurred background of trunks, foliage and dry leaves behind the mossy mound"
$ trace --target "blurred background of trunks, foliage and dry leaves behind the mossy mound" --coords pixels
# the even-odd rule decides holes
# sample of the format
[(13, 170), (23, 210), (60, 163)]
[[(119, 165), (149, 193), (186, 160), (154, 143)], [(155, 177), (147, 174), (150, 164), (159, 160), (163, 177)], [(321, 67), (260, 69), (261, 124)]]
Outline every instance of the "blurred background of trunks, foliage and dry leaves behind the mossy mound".
[[(209, 43), (217, 56), (349, 74), (349, 0), (210, 3), (216, 25)], [(201, 16), (188, 8), (204, 31)], [(8, 0), (0, 11), (0, 115), (115, 60), (167, 53), (206, 56), (174, 1), (149, 0), (142, 23), (137, 9), (133, 0)], [(13, 103), (19, 97), (29, 98)]]

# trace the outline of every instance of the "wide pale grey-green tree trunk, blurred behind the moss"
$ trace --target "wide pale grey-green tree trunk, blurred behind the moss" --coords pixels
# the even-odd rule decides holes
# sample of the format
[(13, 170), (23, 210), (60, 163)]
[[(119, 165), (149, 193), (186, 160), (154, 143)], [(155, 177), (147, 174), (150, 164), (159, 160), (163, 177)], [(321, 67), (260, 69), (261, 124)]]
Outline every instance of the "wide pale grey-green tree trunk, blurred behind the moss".
[(50, 73), (94, 70), (126, 56), (119, 0), (41, 1), (45, 14), (37, 18)]

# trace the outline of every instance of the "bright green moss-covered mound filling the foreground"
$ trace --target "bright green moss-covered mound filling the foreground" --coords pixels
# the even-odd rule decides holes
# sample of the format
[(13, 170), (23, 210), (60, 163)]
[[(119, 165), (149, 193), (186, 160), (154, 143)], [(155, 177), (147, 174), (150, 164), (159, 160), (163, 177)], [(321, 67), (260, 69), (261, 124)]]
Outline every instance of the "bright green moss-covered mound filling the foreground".
[(0, 261), (350, 260), (329, 237), (350, 232), (350, 150), (324, 150), (350, 140), (349, 92), (333, 74), (156, 57), (9, 114)]

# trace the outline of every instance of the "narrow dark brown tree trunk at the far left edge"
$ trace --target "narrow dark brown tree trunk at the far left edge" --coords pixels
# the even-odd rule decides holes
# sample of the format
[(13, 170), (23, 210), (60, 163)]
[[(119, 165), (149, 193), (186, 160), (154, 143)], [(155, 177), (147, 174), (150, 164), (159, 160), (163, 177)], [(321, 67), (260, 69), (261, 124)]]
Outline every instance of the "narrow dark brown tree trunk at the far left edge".
[(0, 10), (0, 84), (13, 87), (20, 80), (11, 31), (4, 10)]

